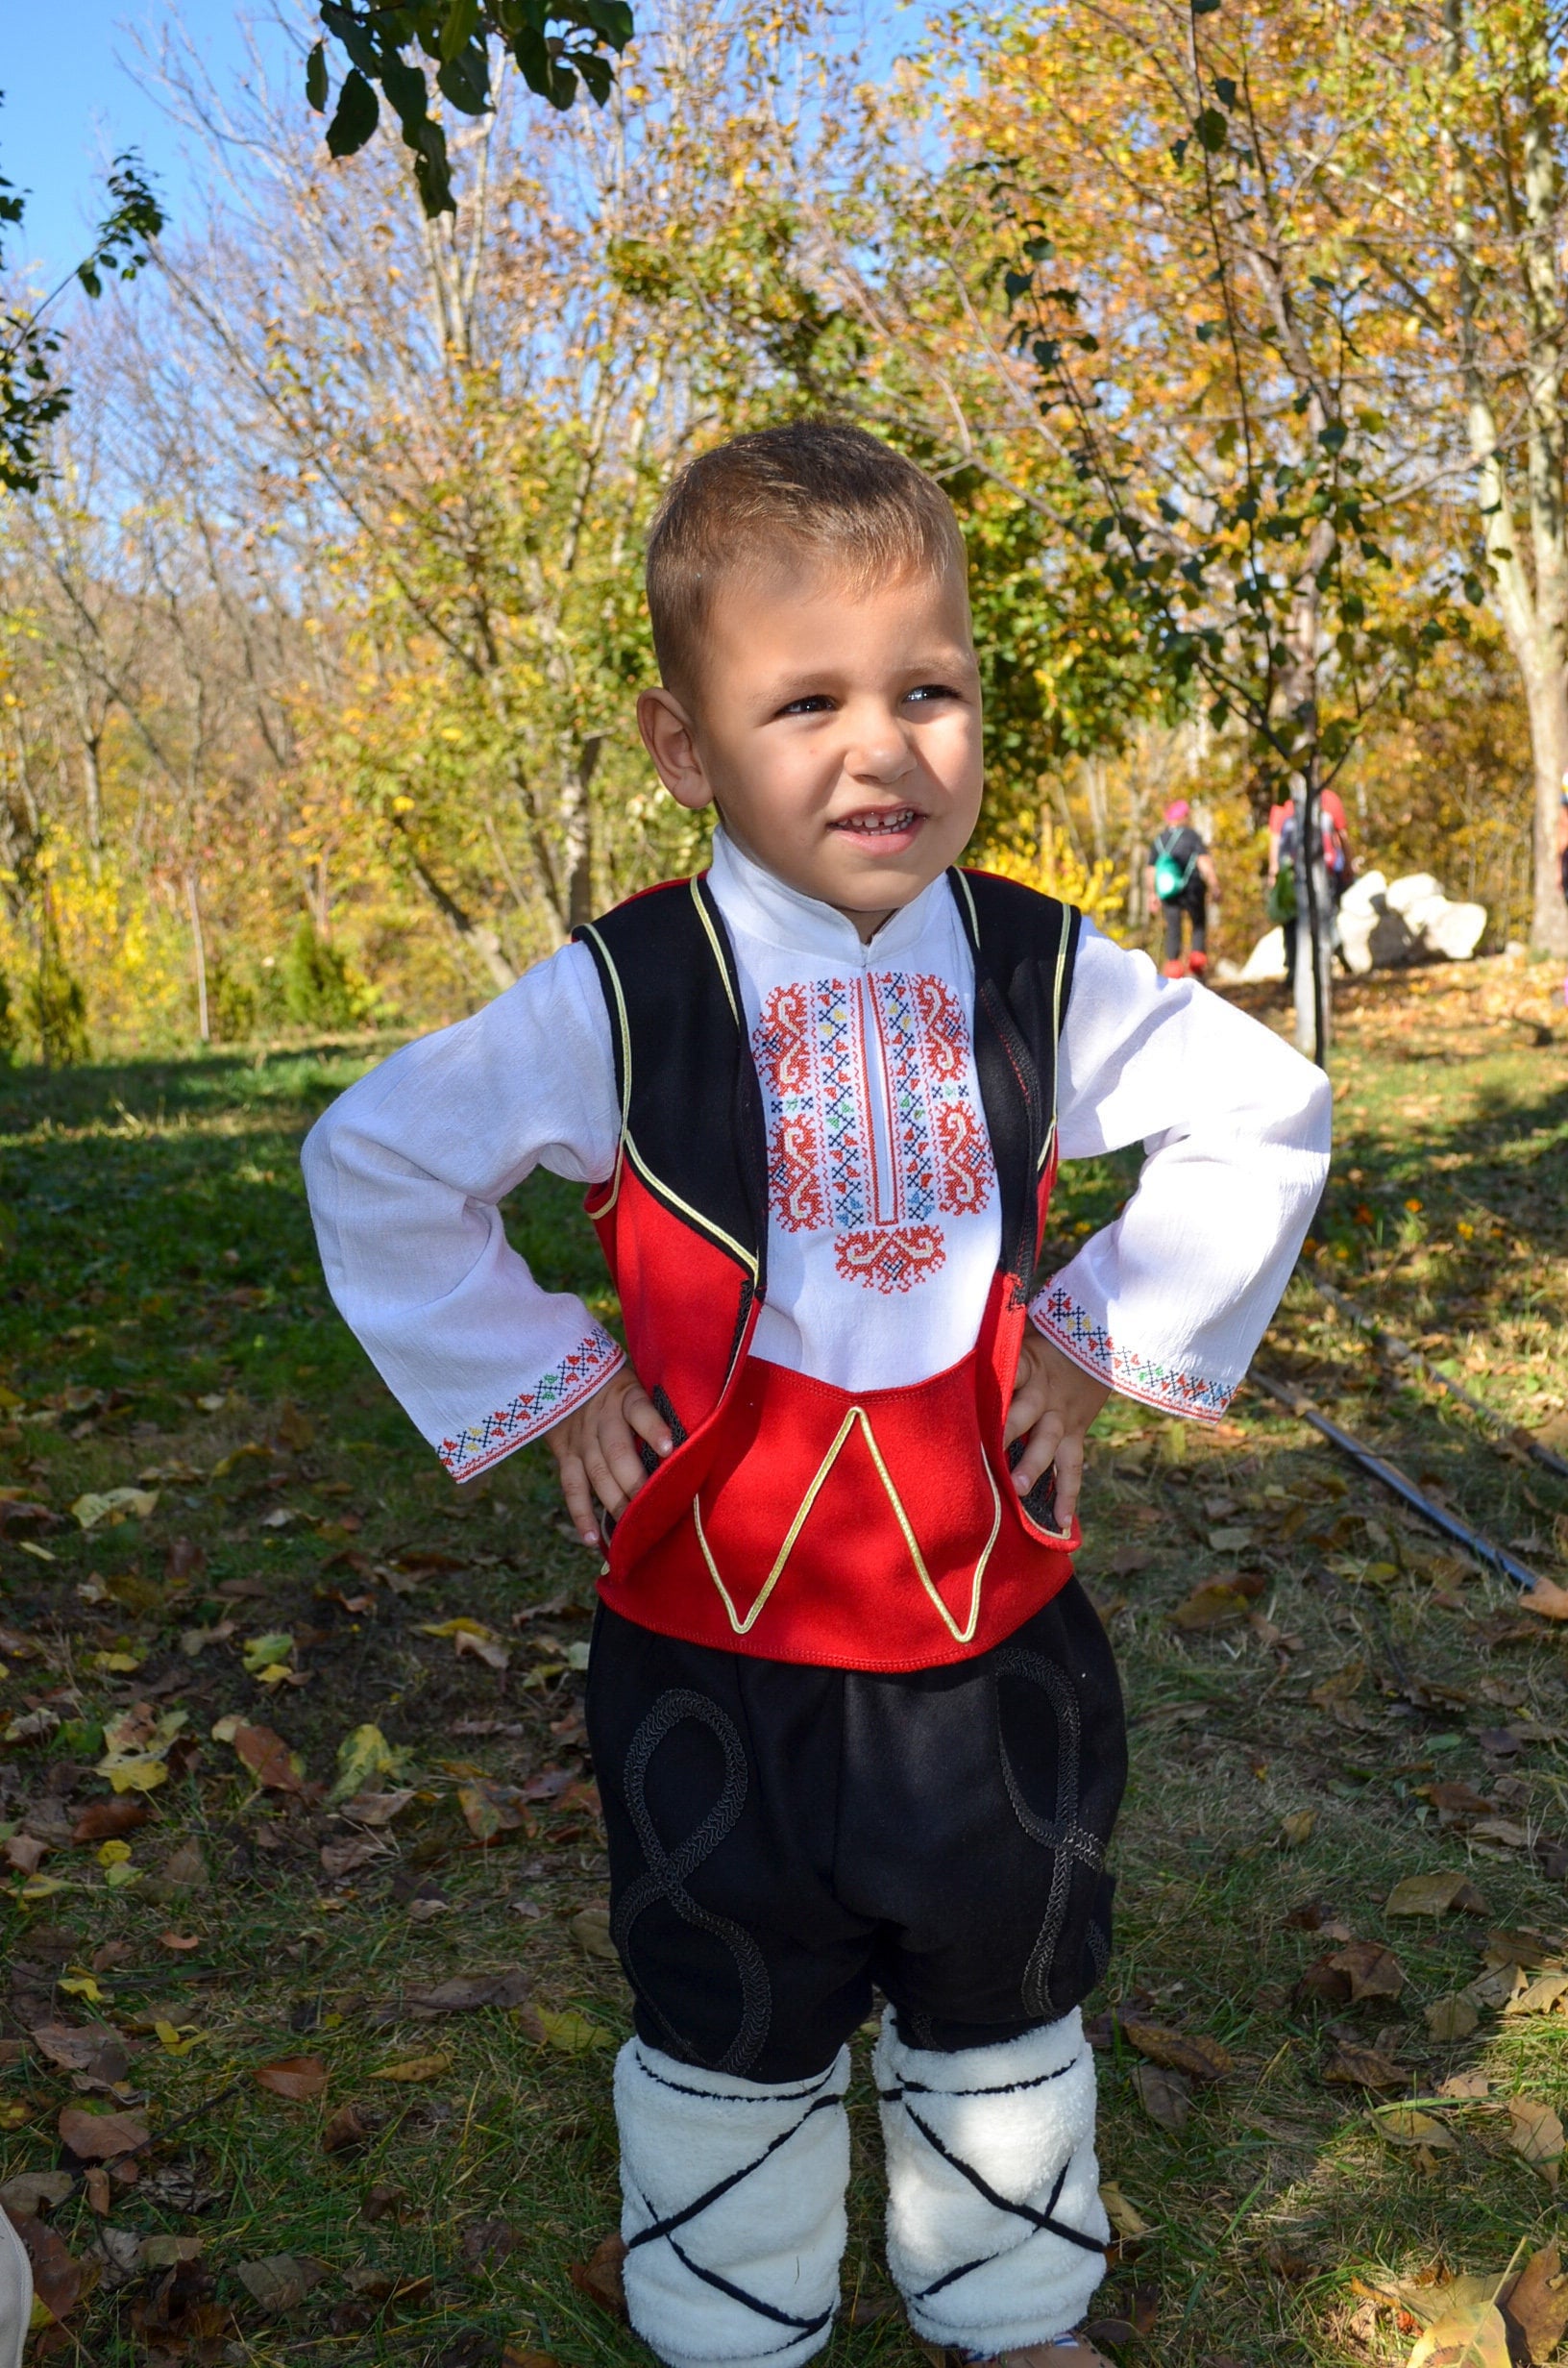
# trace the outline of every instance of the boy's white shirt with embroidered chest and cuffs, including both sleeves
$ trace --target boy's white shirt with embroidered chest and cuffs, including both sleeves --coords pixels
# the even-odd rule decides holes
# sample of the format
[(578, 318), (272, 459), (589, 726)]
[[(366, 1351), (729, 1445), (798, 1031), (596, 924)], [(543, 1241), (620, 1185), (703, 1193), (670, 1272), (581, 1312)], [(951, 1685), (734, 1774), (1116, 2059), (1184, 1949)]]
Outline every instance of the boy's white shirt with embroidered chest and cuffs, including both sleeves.
[[(846, 1390), (926, 1381), (973, 1345), (1002, 1238), (952, 890), (933, 881), (862, 945), (722, 831), (711, 886), (767, 1122), (753, 1354)], [(1120, 1217), (1037, 1295), (1035, 1324), (1125, 1395), (1217, 1421), (1322, 1191), (1324, 1077), (1085, 921), (1056, 1115), (1061, 1158), (1142, 1141), (1146, 1160)], [(533, 1281), (497, 1210), (533, 1167), (609, 1177), (618, 1127), (599, 976), (568, 945), (393, 1054), (306, 1141), (332, 1295), (457, 1480), (623, 1362), (580, 1300)]]

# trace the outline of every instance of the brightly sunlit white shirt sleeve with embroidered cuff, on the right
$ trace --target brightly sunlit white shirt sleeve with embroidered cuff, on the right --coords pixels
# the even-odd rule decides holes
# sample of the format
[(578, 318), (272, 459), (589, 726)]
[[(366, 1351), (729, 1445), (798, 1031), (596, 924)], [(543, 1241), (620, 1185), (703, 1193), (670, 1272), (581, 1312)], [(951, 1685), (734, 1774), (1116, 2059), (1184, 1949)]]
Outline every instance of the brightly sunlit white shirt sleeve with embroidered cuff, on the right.
[(1085, 921), (1061, 1035), (1063, 1160), (1142, 1141), (1120, 1217), (1033, 1302), (1075, 1364), (1165, 1414), (1220, 1421), (1329, 1172), (1329, 1080), (1191, 980)]

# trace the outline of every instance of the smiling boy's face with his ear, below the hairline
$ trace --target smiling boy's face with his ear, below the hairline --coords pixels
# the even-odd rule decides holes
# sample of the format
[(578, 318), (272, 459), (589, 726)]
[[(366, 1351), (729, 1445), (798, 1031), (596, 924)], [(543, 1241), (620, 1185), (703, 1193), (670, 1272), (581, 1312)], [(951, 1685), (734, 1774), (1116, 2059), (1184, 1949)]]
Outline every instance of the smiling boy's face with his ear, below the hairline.
[(779, 566), (727, 583), (689, 699), (644, 691), (663, 786), (872, 938), (981, 812), (981, 677), (957, 568), (850, 592)]

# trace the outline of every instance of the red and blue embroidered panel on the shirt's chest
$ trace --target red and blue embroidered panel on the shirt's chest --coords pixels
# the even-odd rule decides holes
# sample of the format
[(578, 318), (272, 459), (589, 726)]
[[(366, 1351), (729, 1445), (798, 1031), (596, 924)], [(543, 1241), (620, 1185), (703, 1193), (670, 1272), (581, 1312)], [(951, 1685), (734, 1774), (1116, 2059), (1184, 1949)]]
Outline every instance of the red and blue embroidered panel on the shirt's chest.
[(838, 1274), (869, 1291), (936, 1274), (947, 1257), (938, 1220), (973, 1217), (995, 1191), (952, 987), (928, 971), (775, 987), (751, 1051), (775, 1222), (831, 1231)]

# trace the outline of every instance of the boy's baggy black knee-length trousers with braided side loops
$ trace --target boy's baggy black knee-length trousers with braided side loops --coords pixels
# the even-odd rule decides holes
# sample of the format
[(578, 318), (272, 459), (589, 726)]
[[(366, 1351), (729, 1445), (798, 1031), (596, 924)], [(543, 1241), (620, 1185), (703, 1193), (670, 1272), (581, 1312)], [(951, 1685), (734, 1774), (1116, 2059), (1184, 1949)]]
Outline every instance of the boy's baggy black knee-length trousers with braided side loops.
[(1127, 1733), (1078, 1582), (1007, 1643), (895, 1677), (602, 1606), (587, 1731), (637, 2032), (685, 2063), (805, 2079), (874, 1987), (905, 2044), (988, 2046), (1106, 1968)]

